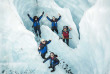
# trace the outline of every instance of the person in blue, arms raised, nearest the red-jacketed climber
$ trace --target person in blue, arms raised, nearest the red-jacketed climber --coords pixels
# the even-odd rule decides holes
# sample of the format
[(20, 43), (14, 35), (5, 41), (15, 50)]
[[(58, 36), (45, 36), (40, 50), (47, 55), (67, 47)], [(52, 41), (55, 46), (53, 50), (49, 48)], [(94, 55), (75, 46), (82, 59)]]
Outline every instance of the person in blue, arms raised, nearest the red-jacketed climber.
[(57, 32), (57, 34), (58, 34), (57, 22), (61, 19), (61, 15), (60, 15), (60, 14), (58, 14), (58, 15), (59, 15), (59, 18), (55, 18), (55, 17), (53, 16), (52, 19), (50, 19), (50, 18), (48, 17), (48, 15), (46, 14), (47, 19), (48, 19), (50, 22), (52, 22), (52, 27), (51, 27), (52, 31), (55, 30), (55, 31)]

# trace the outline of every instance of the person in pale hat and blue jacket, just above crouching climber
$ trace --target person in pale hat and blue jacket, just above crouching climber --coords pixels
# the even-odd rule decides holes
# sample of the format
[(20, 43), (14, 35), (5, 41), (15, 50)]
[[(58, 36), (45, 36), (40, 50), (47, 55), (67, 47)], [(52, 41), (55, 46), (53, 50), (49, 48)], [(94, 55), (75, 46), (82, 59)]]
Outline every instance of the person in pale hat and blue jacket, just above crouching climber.
[(46, 55), (46, 53), (47, 53), (47, 45), (48, 45), (50, 42), (51, 42), (51, 40), (49, 40), (49, 41), (46, 41), (46, 40), (44, 40), (44, 39), (41, 40), (40, 46), (39, 46), (39, 48), (38, 48), (38, 51), (41, 52), (41, 57), (42, 57), (43, 59), (46, 59), (46, 58), (45, 58), (45, 55)]

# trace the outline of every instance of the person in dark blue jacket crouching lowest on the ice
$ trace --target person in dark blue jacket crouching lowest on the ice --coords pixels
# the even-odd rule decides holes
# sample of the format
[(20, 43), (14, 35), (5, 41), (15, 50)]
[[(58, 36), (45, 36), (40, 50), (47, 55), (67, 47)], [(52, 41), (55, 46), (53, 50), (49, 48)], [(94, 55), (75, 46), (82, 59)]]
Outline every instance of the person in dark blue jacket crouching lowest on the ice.
[(47, 60), (50, 60), (50, 66), (49, 68), (52, 68), (51, 72), (55, 71), (55, 66), (59, 64), (59, 60), (57, 59), (57, 55), (55, 55), (53, 52), (50, 53), (49, 57), (43, 61), (45, 63)]

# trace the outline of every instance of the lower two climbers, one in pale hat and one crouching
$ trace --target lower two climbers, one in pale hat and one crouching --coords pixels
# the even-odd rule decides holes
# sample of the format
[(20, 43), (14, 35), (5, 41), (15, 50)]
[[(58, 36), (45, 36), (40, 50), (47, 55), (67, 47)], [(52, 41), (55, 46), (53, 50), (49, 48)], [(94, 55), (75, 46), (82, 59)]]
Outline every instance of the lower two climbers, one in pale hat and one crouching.
[(55, 66), (59, 64), (59, 60), (57, 59), (57, 55), (55, 55), (53, 52), (50, 53), (49, 57), (45, 58), (46, 53), (48, 51), (47, 45), (51, 42), (51, 40), (46, 41), (44, 39), (41, 40), (40, 46), (38, 48), (39, 53), (41, 53), (41, 57), (44, 59), (43, 63), (45, 63), (47, 60), (50, 60), (50, 66), (49, 68), (52, 68), (51, 72), (55, 71)]

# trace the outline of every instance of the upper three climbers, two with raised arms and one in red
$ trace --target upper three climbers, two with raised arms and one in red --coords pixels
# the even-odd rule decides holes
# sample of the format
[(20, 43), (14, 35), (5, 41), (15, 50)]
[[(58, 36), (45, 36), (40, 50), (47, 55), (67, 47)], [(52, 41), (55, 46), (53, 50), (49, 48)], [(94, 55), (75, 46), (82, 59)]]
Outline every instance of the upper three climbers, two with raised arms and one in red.
[[(44, 12), (42, 12), (42, 15), (40, 17), (37, 17), (37, 16), (34, 16), (33, 18), (30, 17), (29, 14), (27, 14), (28, 17), (30, 18), (30, 20), (33, 22), (33, 28), (35, 30), (35, 33), (36, 33), (36, 36), (38, 36), (38, 33), (37, 31), (39, 32), (39, 37), (41, 38), (41, 30), (40, 30), (40, 23), (39, 21), (41, 20), (41, 18), (43, 17), (44, 15)], [(52, 27), (51, 27), (51, 30), (52, 31), (56, 31), (56, 33), (58, 34), (58, 26), (57, 26), (57, 22), (61, 19), (61, 15), (59, 15), (59, 18), (55, 18), (55, 16), (52, 17), (52, 19), (50, 19), (48, 17), (48, 15), (46, 14), (46, 18), (52, 23)], [(63, 39), (63, 42), (65, 42), (66, 40), (66, 44), (69, 46), (69, 31), (71, 31), (72, 29), (68, 26), (64, 26), (63, 27), (63, 30), (62, 30), (62, 39)]]

